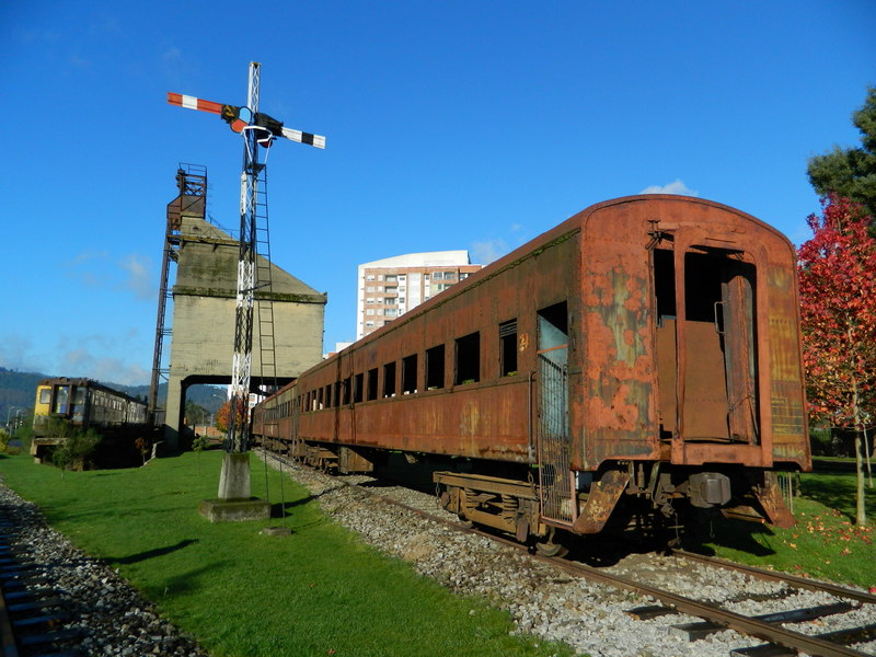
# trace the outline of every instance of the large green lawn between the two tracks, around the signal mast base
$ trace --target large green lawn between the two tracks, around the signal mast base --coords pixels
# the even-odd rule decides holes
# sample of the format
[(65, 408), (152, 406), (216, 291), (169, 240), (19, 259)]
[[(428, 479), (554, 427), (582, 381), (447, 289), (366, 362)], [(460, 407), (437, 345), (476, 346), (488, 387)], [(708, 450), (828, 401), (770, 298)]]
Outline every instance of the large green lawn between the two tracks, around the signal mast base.
[[(284, 484), (290, 537), (264, 522), (211, 525), (221, 453), (186, 453), (134, 470), (68, 472), (0, 457), (0, 475), (47, 520), (103, 558), (212, 655), (570, 655), (509, 636), (507, 613), (453, 596), (332, 523), (304, 488)], [(253, 495), (266, 497), (252, 463)], [(269, 473), (280, 499), (279, 475)]]

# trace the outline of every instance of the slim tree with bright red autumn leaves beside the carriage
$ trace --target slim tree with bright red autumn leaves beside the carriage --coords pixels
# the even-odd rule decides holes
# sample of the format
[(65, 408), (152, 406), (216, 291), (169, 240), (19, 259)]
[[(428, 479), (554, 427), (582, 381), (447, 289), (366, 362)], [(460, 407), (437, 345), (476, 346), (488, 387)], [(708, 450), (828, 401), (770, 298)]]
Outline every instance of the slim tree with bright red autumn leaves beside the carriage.
[(861, 439), (876, 411), (876, 240), (862, 206), (831, 195), (799, 261), (803, 360), (809, 412), (834, 427), (853, 427), (857, 464), (855, 521), (866, 523)]

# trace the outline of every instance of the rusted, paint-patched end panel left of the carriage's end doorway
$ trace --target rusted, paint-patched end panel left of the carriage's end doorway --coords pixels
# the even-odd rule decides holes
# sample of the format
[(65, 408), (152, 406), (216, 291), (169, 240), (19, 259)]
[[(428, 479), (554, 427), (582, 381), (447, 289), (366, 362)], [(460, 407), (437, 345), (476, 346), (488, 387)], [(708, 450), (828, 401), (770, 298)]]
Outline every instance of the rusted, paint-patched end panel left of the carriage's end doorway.
[(573, 466), (580, 469), (659, 454), (647, 207), (609, 206), (581, 218), (586, 346), (583, 422), (573, 434), (579, 441)]

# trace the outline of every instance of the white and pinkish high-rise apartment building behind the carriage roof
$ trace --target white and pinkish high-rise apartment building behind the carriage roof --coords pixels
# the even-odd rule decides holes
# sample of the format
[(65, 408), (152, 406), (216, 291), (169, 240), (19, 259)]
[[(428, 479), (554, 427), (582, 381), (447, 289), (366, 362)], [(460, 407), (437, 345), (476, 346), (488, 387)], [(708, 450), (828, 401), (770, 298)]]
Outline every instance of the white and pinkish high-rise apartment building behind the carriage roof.
[(359, 265), (356, 339), (477, 272), (468, 251), (408, 253)]

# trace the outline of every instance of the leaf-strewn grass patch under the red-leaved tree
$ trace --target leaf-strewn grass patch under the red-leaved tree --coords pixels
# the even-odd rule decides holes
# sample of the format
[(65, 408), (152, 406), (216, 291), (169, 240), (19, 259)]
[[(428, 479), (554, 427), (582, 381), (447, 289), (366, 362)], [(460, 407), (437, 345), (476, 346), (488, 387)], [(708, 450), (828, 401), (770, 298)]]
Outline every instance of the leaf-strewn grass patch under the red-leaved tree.
[(804, 474), (794, 500), (795, 527), (716, 520), (714, 535), (703, 546), (750, 565), (865, 588), (876, 586), (876, 489), (867, 487), (865, 492), (869, 521), (856, 527), (855, 475)]

